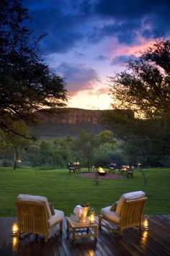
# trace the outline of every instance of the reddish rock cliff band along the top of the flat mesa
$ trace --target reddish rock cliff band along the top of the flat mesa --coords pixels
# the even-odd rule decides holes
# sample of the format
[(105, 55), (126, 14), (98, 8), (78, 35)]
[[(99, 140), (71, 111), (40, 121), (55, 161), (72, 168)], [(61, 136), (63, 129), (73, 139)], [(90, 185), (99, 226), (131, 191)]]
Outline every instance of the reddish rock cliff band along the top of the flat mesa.
[(131, 118), (134, 117), (133, 111), (129, 110), (89, 110), (82, 108), (58, 108), (38, 111), (38, 116), (42, 123), (50, 122), (57, 124), (78, 124), (89, 122), (91, 124), (99, 124), (103, 114), (115, 114), (119, 111)]

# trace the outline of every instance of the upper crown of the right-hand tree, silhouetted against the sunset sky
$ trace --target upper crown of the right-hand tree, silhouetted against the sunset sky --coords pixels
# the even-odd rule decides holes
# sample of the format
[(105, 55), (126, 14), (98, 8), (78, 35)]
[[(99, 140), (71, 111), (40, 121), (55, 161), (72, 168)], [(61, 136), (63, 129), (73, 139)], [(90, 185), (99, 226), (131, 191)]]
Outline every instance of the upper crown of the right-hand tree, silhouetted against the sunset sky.
[(130, 108), (146, 118), (170, 116), (170, 40), (156, 40), (128, 70), (111, 78), (117, 106)]

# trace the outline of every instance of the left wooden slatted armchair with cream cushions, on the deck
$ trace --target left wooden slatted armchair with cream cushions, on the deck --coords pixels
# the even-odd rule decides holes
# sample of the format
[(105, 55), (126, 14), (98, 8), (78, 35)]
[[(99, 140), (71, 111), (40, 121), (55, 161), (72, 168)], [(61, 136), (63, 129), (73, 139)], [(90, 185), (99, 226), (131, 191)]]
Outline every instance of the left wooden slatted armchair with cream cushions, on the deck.
[(19, 237), (22, 232), (44, 234), (45, 242), (48, 242), (49, 231), (60, 224), (63, 230), (64, 213), (53, 209), (53, 215), (46, 197), (37, 195), (18, 195), (17, 221), (19, 225)]

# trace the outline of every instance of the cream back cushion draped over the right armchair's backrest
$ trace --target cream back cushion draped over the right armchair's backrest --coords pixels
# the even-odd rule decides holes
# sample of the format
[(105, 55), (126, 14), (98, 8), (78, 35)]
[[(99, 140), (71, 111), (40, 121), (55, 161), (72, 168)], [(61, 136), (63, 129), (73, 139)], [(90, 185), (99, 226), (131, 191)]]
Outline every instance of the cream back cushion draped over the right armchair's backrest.
[(125, 202), (125, 200), (133, 200), (133, 199), (138, 199), (145, 196), (146, 196), (146, 193), (143, 191), (135, 191), (135, 192), (129, 192), (129, 193), (123, 194), (117, 203), (117, 208), (115, 210), (115, 213), (120, 216), (122, 205)]

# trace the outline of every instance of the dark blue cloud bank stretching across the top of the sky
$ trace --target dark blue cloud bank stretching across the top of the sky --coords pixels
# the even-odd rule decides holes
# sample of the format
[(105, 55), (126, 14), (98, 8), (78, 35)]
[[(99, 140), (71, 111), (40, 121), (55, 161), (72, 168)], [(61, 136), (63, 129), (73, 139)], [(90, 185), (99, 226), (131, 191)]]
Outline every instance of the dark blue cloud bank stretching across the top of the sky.
[(32, 28), (48, 33), (42, 40), (46, 54), (67, 53), (77, 46), (117, 38), (135, 45), (146, 39), (170, 35), (169, 0), (24, 0), (32, 11)]

